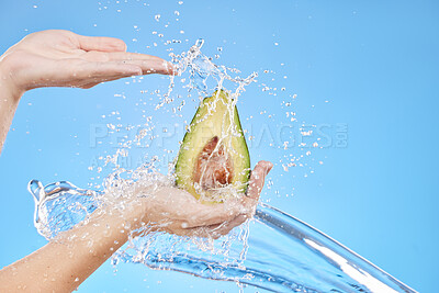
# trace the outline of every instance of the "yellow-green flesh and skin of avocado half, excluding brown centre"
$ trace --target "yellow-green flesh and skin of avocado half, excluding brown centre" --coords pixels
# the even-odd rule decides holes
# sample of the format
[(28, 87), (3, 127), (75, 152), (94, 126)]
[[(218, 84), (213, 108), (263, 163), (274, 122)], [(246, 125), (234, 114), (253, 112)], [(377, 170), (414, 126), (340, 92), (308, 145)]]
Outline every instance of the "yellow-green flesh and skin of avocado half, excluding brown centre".
[[(223, 90), (215, 91), (200, 103), (183, 137), (176, 164), (177, 187), (205, 202), (218, 202), (218, 199), (213, 199), (209, 191), (196, 189), (193, 172), (203, 148), (215, 136), (219, 138), (218, 144), (224, 147), (232, 161), (232, 181), (228, 188), (232, 187), (237, 194), (244, 195), (250, 177), (250, 155), (238, 110)], [(219, 202), (224, 198), (226, 196)]]

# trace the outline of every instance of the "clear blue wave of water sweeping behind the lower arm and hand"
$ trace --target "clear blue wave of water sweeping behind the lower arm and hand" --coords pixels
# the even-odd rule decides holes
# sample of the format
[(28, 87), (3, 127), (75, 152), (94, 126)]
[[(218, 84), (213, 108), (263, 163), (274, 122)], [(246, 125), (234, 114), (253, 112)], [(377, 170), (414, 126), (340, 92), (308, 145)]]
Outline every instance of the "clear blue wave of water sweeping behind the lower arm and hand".
[[(87, 219), (102, 193), (33, 180), (35, 227), (47, 239)], [(416, 292), (306, 223), (260, 204), (255, 219), (217, 240), (167, 233), (131, 237), (113, 263), (249, 284), (273, 292)]]

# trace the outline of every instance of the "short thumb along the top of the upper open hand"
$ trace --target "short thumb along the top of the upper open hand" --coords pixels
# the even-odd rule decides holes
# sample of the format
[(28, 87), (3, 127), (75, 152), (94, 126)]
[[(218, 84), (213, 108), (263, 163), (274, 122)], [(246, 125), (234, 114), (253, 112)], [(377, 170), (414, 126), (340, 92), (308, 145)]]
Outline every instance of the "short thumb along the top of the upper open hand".
[(126, 44), (122, 40), (105, 36), (78, 35), (79, 46), (83, 50), (125, 52)]

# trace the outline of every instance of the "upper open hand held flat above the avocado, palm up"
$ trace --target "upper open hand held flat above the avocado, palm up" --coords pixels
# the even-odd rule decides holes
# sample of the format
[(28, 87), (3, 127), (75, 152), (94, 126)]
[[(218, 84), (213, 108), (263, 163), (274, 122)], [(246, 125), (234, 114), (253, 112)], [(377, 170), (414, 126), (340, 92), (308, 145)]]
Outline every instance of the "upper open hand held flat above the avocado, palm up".
[(125, 43), (117, 38), (43, 31), (8, 49), (0, 65), (19, 93), (40, 87), (88, 89), (130, 76), (172, 74), (172, 66), (159, 57), (125, 50)]

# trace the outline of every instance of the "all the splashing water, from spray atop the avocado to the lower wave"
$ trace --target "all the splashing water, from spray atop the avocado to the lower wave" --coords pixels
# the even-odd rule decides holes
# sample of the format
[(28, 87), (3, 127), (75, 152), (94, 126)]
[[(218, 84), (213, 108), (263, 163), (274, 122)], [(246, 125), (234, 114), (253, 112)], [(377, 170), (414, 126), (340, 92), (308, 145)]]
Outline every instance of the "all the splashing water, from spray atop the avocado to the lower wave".
[[(203, 44), (199, 40), (190, 50), (171, 55), (178, 76), (189, 74), (189, 82), (183, 87), (199, 99), (227, 88), (230, 105), (236, 104), (245, 87), (256, 81), (258, 75), (240, 78), (239, 70), (215, 65), (201, 53)], [(175, 101), (171, 97), (175, 78), (160, 95), (156, 110)], [(138, 185), (173, 185), (171, 169), (169, 176), (157, 173), (156, 157), (135, 170), (125, 170), (116, 164), (117, 157), (127, 156), (132, 143), (140, 144), (149, 135), (148, 129), (145, 127), (134, 142), (124, 142), (114, 156), (104, 158), (116, 168), (103, 182), (102, 192), (79, 189), (67, 181), (47, 187), (31, 181), (29, 191), (35, 199), (38, 233), (54, 239), (75, 225), (87, 223), (103, 201), (123, 204), (124, 196), (137, 196)], [(143, 263), (153, 269), (234, 281), (273, 292), (415, 292), (313, 227), (263, 204), (258, 207), (255, 221), (217, 240), (147, 229), (142, 233), (142, 237), (131, 235), (127, 245), (114, 253), (114, 264)]]

